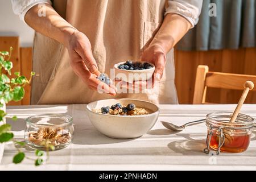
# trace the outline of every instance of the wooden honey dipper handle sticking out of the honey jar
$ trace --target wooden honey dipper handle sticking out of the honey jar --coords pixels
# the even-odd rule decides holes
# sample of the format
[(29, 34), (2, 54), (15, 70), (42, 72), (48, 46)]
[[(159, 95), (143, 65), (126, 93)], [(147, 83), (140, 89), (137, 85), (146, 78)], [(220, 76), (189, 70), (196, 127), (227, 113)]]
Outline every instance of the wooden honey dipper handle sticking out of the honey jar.
[(252, 90), (254, 88), (254, 84), (251, 81), (246, 81), (245, 84), (243, 84), (243, 87), (245, 89), (243, 90), (242, 96), (240, 97), (240, 100), (237, 104), (236, 110), (234, 111), (234, 114), (232, 115), (232, 118), (230, 119), (230, 123), (234, 123), (236, 121), (237, 115), (240, 112), (243, 102), (245, 102), (245, 99), (247, 97), (249, 90)]

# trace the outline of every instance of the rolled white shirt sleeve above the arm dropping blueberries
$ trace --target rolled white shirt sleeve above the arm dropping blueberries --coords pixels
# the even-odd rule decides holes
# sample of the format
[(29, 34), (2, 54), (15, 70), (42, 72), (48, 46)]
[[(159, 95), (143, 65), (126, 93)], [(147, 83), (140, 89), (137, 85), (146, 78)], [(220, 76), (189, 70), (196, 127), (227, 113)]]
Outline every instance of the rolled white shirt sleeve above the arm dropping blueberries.
[(19, 15), (19, 18), (23, 20), (23, 22), (25, 22), (25, 15), (31, 7), (40, 3), (52, 4), (50, 0), (11, 0), (11, 3), (13, 4), (14, 14)]

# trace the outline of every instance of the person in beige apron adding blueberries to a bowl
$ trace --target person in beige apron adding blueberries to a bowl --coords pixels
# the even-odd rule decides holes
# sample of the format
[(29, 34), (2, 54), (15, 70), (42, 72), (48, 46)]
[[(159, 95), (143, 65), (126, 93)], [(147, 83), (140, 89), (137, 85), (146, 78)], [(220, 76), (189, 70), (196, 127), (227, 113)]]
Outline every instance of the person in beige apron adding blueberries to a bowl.
[[(202, 0), (12, 0), (36, 31), (31, 104), (79, 104), (105, 98), (139, 98), (159, 91), (156, 104), (177, 104), (173, 47), (195, 26)], [(43, 4), (42, 4), (43, 3)], [(118, 93), (100, 73), (123, 60), (155, 64), (147, 93)], [(139, 86), (147, 84), (139, 82)], [(128, 84), (122, 84), (127, 86)], [(137, 89), (138, 83), (130, 85)]]

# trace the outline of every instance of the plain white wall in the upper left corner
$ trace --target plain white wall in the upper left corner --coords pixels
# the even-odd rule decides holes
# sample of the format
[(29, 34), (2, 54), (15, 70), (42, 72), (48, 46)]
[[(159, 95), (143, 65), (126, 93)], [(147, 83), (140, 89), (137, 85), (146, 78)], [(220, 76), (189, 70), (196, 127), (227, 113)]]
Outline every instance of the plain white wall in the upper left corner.
[(11, 0), (0, 0), (0, 36), (19, 36), (21, 47), (31, 47), (34, 31), (13, 13)]

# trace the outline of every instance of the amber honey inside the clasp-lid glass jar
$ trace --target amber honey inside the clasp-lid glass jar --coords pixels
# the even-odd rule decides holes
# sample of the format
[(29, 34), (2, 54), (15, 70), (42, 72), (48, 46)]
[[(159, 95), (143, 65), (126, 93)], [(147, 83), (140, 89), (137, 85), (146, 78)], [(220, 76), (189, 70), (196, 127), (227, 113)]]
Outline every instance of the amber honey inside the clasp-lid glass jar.
[[(210, 135), (208, 132), (207, 140), (209, 140), (209, 137)], [(220, 148), (221, 152), (243, 152), (246, 151), (250, 144), (250, 135), (230, 136), (228, 134), (224, 134), (224, 137), (224, 143)], [(217, 150), (219, 142), (220, 135), (213, 133), (209, 143), (210, 148), (212, 148), (213, 150)]]

